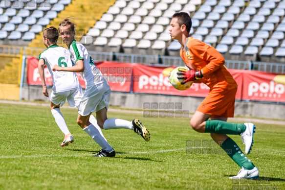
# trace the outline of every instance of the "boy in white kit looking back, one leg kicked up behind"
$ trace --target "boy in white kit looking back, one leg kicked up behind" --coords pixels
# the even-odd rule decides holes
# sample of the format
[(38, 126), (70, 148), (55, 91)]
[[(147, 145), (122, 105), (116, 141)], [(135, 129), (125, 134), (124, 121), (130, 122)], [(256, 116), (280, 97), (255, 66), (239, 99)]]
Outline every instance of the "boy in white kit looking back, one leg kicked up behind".
[[(82, 77), (85, 80), (86, 91), (80, 102), (78, 109), (77, 123), (87, 133), (93, 133), (90, 130), (92, 124), (88, 121), (92, 112), (96, 113), (97, 124), (105, 130), (108, 129), (129, 129), (140, 135), (145, 141), (150, 141), (150, 133), (146, 127), (138, 119), (127, 121), (123, 119), (108, 119), (107, 110), (109, 108), (110, 100), (110, 86), (103, 77), (101, 71), (95, 66), (91, 56), (87, 49), (74, 39), (75, 36), (75, 24), (69, 21), (68, 18), (64, 19), (59, 24), (60, 37), (67, 45), (71, 59), (76, 64), (73, 67), (58, 67), (55, 65), (53, 71), (69, 71), (69, 72), (81, 72)], [(114, 156), (115, 151), (113, 148), (102, 149), (98, 157)]]

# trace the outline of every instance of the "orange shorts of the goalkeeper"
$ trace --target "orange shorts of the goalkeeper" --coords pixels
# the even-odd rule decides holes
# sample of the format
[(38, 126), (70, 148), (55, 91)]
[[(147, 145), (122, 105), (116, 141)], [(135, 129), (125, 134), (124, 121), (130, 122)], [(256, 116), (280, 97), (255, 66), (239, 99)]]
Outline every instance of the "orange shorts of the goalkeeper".
[(233, 118), (235, 112), (235, 99), (238, 88), (225, 90), (214, 88), (205, 97), (197, 111), (212, 115), (211, 118)]

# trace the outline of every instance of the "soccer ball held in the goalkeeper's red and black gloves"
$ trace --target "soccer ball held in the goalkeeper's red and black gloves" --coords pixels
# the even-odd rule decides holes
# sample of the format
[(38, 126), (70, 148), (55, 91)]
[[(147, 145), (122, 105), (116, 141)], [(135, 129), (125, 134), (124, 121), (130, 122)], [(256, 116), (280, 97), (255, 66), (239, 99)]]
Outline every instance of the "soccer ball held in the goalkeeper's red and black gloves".
[(193, 84), (193, 81), (189, 81), (189, 82), (186, 82), (185, 84), (181, 84), (181, 82), (184, 81), (185, 79), (178, 79), (177, 78), (178, 68), (183, 68), (183, 69), (189, 70), (188, 67), (176, 67), (174, 70), (172, 70), (170, 72), (169, 81), (175, 89), (180, 90), (180, 91), (184, 91), (184, 90), (187, 90), (191, 87), (191, 85)]

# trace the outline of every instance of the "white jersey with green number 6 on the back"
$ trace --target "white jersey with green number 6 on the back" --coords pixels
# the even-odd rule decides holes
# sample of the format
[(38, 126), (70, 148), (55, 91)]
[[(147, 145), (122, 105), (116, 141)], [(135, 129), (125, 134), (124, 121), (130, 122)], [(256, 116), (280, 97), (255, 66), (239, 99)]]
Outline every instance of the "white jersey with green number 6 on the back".
[(53, 84), (52, 91), (54, 93), (81, 88), (76, 73), (51, 70), (54, 65), (72, 67), (70, 53), (66, 48), (51, 45), (39, 55), (39, 60), (40, 59), (44, 59), (44, 64), (51, 74)]

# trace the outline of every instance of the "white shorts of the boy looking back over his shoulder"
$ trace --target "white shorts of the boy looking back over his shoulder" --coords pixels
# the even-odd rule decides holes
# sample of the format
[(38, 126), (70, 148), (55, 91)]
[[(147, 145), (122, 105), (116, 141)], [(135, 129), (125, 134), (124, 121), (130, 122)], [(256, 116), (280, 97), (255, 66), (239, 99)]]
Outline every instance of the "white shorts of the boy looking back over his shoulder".
[(92, 112), (98, 112), (103, 108), (109, 108), (111, 89), (107, 82), (103, 82), (86, 88), (78, 107), (78, 114), (88, 116)]

